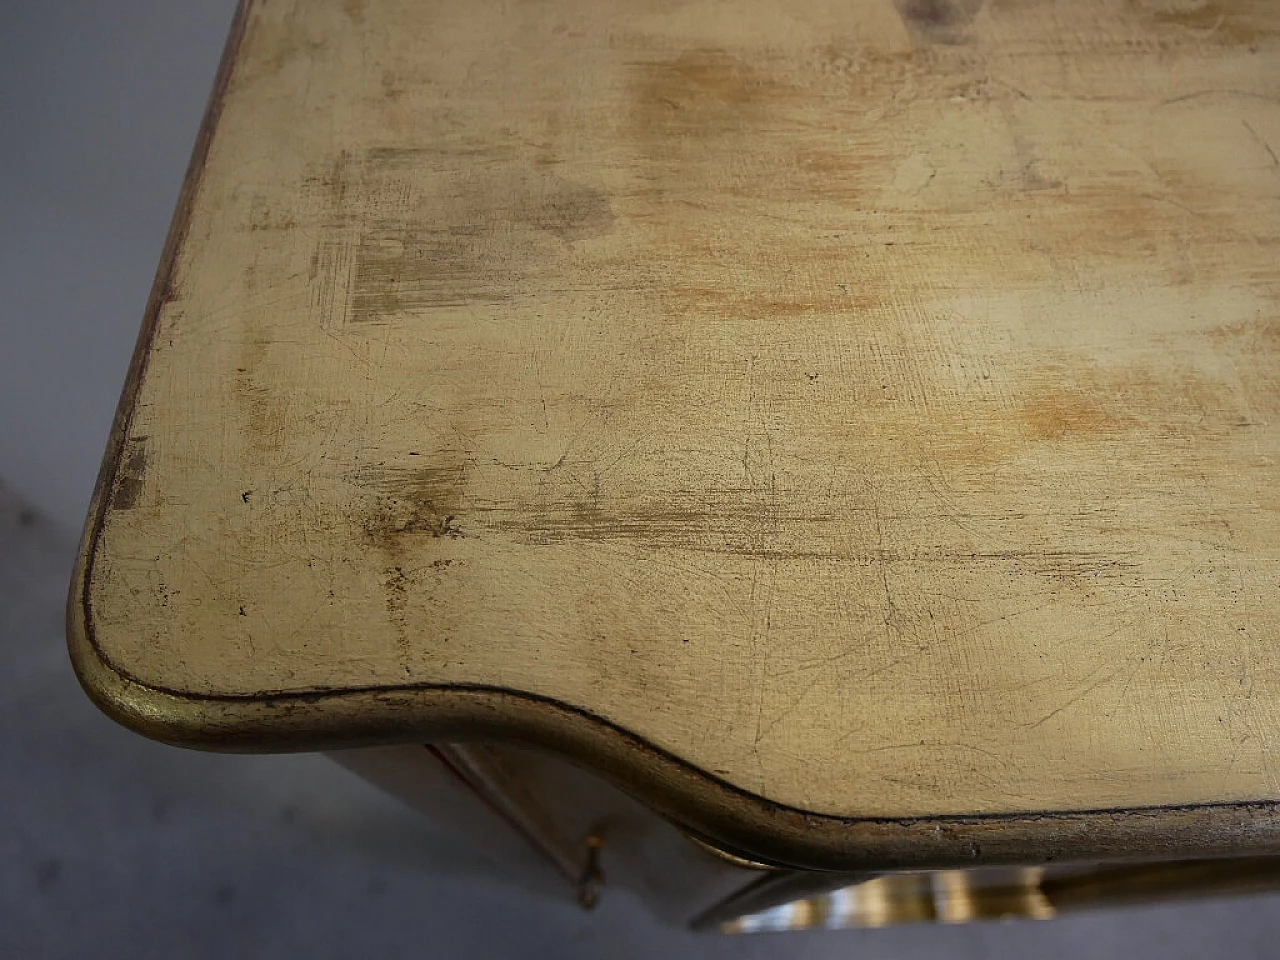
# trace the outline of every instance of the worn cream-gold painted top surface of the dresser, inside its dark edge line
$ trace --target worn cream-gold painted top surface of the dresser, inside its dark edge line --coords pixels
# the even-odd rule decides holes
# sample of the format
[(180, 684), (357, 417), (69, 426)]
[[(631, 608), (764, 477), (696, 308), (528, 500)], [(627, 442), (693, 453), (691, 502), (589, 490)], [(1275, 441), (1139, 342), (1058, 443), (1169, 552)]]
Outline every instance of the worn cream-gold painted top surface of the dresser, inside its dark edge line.
[(101, 653), (531, 691), (828, 814), (1276, 797), (1277, 26), (259, 0)]

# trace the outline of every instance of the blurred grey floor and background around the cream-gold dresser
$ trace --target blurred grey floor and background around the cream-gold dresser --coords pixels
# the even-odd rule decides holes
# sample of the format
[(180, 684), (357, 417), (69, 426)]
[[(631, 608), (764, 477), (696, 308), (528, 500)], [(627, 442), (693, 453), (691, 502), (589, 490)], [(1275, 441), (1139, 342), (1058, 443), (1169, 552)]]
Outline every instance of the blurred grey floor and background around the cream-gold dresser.
[(0, 3), (0, 956), (1280, 956), (1280, 897), (694, 936), (508, 883), (317, 756), (116, 728), (63, 645), (76, 538), (233, 0)]

